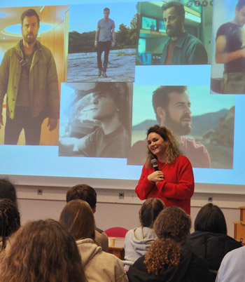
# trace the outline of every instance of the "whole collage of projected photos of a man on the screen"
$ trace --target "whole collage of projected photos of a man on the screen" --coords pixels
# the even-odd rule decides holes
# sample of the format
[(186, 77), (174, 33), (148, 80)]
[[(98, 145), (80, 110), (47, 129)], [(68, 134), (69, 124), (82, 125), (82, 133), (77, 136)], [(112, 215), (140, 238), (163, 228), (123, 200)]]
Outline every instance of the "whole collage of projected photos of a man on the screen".
[[(53, 146), (57, 163), (112, 158), (133, 168), (146, 159), (146, 130), (160, 124), (194, 168), (232, 170), (234, 94), (245, 92), (245, 62), (234, 74), (238, 61), (224, 53), (237, 46), (225, 42), (230, 27), (219, 27), (235, 4), (223, 5), (227, 16), (213, 22), (212, 1), (174, 2), (0, 8), (0, 145)], [(219, 15), (225, 1), (216, 2)], [(20, 25), (29, 8), (40, 17), (39, 30), (33, 22)], [(243, 28), (231, 28), (232, 42), (245, 38)], [(21, 40), (35, 36), (41, 46), (32, 58)]]

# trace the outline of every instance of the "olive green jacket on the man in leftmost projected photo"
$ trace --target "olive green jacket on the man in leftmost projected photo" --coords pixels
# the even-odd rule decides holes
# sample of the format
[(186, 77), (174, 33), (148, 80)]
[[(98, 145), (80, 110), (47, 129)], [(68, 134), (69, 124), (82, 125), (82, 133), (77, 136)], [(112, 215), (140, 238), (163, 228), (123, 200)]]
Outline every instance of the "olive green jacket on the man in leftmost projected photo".
[[(20, 41), (14, 48), (23, 57)], [(19, 59), (13, 48), (10, 48), (4, 54), (0, 66), (0, 116), (2, 116), (5, 94), (7, 95), (7, 115), (10, 119), (15, 116), (15, 102), (21, 71)], [(59, 83), (55, 60), (51, 51), (38, 41), (36, 41), (36, 50), (29, 72), (29, 93), (32, 117), (44, 112), (49, 118), (59, 118)]]

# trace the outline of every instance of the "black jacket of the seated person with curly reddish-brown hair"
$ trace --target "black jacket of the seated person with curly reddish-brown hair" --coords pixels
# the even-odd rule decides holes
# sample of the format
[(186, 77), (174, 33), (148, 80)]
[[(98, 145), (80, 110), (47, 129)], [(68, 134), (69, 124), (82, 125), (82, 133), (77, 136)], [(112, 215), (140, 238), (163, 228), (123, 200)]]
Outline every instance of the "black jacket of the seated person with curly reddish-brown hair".
[(127, 271), (130, 282), (210, 282), (207, 262), (191, 252), (186, 246), (181, 247), (181, 261), (177, 267), (148, 274), (145, 256), (140, 257)]

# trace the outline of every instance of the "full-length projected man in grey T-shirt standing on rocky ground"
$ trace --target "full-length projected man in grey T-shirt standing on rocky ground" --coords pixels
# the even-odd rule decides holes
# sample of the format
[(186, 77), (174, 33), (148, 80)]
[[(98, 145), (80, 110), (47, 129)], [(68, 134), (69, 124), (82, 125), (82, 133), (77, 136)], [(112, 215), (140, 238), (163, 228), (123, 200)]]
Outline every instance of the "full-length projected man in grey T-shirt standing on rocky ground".
[[(94, 46), (97, 47), (98, 76), (107, 77), (106, 69), (111, 47), (115, 46), (115, 22), (109, 18), (110, 9), (104, 8), (104, 18), (99, 20), (95, 34)], [(112, 42), (111, 42), (112, 39)], [(104, 64), (102, 67), (102, 53)]]

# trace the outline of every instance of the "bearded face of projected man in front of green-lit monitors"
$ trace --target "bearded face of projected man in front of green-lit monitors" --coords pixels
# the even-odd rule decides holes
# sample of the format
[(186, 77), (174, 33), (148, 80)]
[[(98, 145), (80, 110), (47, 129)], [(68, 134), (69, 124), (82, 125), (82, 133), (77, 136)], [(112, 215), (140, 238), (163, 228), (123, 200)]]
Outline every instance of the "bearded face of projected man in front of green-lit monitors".
[(169, 37), (178, 37), (183, 29), (183, 19), (176, 13), (174, 7), (168, 8), (163, 12), (163, 20)]

